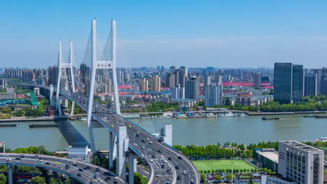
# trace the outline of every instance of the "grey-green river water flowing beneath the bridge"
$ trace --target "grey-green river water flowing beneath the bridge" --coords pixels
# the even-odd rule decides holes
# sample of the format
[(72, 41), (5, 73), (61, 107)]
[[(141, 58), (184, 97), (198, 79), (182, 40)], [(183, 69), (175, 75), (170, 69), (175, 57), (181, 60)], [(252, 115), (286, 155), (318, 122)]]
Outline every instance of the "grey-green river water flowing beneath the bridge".
[[(278, 115), (278, 117), (279, 120), (266, 121), (262, 120), (262, 116), (171, 118), (151, 119), (151, 121), (154, 130), (162, 128), (164, 123), (172, 123), (173, 144), (184, 146), (217, 144), (217, 141), (221, 144), (226, 141), (249, 144), (286, 139), (308, 141), (327, 137), (327, 118), (303, 118), (303, 114)], [(43, 145), (48, 151), (60, 151), (68, 148), (68, 142), (83, 143), (89, 139), (86, 121), (68, 121), (66, 123), (71, 126), (68, 130), (66, 128), (64, 130), (62, 128), (31, 129), (28, 126), (31, 123), (52, 124), (54, 122), (17, 122), (17, 127), (0, 128), (0, 141), (6, 141), (6, 146), (11, 149), (20, 146)], [(62, 127), (66, 127), (66, 124)], [(76, 132), (80, 134), (78, 140), (67, 138), (75, 135)], [(106, 128), (95, 128), (94, 138), (96, 149), (108, 150)]]

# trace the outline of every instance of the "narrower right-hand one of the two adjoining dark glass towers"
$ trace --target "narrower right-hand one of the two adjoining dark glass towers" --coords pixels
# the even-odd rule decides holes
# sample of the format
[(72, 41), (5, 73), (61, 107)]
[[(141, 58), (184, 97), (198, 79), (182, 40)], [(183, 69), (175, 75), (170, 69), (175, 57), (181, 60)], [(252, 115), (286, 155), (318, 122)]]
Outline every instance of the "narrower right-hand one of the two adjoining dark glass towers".
[(303, 65), (293, 65), (292, 72), (292, 100), (300, 102), (303, 98)]

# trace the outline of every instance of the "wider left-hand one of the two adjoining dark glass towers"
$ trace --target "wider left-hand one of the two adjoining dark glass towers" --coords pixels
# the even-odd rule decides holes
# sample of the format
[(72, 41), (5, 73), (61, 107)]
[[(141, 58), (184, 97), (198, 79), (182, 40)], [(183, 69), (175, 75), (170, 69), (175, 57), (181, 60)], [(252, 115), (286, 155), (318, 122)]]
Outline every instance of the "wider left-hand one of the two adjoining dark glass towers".
[(275, 63), (274, 68), (274, 100), (281, 103), (292, 100), (292, 63)]

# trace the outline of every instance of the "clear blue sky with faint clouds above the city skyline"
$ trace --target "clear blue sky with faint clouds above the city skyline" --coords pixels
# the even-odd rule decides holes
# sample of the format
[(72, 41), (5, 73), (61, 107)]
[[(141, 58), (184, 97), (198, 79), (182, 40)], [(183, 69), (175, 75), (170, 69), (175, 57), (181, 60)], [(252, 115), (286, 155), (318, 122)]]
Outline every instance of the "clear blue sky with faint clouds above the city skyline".
[(0, 67), (46, 67), (73, 40), (80, 63), (97, 19), (117, 20), (118, 66), (326, 66), (327, 1), (2, 1)]

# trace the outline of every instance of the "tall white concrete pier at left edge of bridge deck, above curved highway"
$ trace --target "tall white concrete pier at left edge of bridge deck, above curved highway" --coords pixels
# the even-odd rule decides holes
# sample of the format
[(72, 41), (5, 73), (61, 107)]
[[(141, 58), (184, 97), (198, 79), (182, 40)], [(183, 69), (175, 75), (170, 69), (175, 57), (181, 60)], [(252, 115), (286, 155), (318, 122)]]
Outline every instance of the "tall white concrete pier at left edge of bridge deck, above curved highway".
[(126, 126), (118, 128), (117, 135), (117, 175), (126, 180), (126, 151), (129, 150), (129, 138), (127, 137)]

